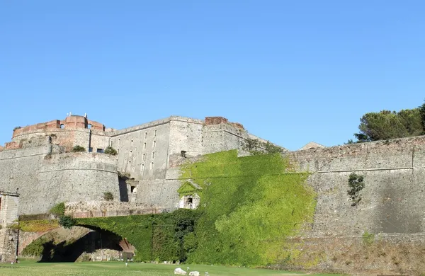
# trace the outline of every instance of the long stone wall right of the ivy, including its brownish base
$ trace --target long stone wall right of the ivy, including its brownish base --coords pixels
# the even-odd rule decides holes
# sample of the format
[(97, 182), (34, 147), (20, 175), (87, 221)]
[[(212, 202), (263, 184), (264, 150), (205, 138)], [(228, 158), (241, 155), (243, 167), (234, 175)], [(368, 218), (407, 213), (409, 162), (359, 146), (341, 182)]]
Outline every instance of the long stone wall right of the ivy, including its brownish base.
[[(310, 268), (391, 274), (425, 271), (424, 136), (287, 155), (298, 171), (312, 173), (307, 183), (317, 192), (314, 222), (293, 240)], [(347, 195), (351, 173), (364, 176), (365, 188), (356, 206)]]

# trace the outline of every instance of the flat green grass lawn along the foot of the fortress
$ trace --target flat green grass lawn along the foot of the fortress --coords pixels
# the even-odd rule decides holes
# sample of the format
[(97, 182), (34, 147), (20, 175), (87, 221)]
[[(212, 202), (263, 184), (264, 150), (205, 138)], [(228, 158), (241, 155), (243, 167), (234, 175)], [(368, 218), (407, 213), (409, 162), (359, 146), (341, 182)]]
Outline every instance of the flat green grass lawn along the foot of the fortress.
[[(214, 275), (305, 275), (297, 272), (285, 272), (283, 270), (264, 270), (249, 268), (232, 268), (220, 265), (156, 265), (151, 263), (125, 263), (120, 262), (87, 262), (87, 263), (36, 263), (35, 260), (21, 260), (18, 264), (1, 264), (0, 275), (13, 276), (52, 276), (52, 275), (174, 275), (174, 268), (197, 270), (201, 276), (208, 272)], [(315, 274), (319, 275), (319, 274)]]

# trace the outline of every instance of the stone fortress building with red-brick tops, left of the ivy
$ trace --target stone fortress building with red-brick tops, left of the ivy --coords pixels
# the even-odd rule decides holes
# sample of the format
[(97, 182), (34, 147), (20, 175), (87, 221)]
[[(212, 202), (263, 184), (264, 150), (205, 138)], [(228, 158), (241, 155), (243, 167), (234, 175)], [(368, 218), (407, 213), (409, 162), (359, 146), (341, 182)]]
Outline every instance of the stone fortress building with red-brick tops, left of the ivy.
[[(123, 130), (69, 115), (13, 130), (0, 149), (0, 189), (21, 192), (20, 214), (47, 212), (58, 202), (114, 200), (147, 207), (181, 205), (179, 166), (185, 159), (259, 139), (224, 117), (171, 116)], [(83, 146), (85, 152), (72, 152)], [(117, 155), (104, 154), (111, 146)]]

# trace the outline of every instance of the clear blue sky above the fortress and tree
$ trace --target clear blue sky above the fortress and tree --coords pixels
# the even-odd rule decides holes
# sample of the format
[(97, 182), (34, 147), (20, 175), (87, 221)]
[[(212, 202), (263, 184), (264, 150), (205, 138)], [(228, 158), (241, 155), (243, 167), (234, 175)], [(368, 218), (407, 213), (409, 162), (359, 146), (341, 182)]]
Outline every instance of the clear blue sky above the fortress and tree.
[(224, 116), (288, 149), (343, 144), (425, 99), (425, 1), (1, 1), (0, 144), (88, 113), (107, 127)]

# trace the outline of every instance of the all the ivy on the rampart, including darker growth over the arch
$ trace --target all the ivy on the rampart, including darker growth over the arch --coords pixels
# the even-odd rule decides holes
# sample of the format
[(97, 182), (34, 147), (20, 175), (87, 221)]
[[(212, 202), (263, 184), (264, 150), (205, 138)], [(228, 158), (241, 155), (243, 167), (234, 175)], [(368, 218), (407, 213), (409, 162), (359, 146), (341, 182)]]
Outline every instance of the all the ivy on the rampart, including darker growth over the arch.
[(137, 250), (136, 260), (287, 263), (297, 252), (286, 238), (299, 234), (314, 214), (315, 193), (304, 185), (306, 178), (307, 173), (290, 171), (280, 154), (208, 154), (202, 161), (187, 163), (181, 172), (179, 193), (197, 193), (197, 210), (75, 222), (126, 238)]

